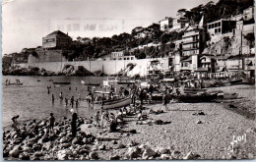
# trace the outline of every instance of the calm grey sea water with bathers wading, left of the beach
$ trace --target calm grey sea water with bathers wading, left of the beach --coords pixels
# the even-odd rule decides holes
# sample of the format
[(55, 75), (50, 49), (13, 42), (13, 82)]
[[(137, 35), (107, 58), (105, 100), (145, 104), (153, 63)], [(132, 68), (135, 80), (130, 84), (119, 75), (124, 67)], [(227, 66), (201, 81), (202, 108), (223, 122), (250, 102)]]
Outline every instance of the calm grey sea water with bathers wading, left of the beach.
[[(23, 85), (5, 85), (6, 80), (16, 82), (19, 79)], [(81, 81), (100, 82), (106, 78), (96, 77), (14, 77), (4, 76), (2, 78), (2, 124), (3, 128), (10, 127), (12, 124), (11, 118), (15, 115), (20, 115), (19, 122), (26, 122), (32, 119), (40, 120), (49, 117), (49, 114), (54, 113), (55, 118), (70, 117), (71, 106), (66, 107), (65, 101), (62, 103), (59, 99), (59, 93), (62, 91), (64, 98), (75, 99), (80, 97), (80, 102), (77, 112), (79, 116), (90, 117), (94, 116), (97, 110), (89, 109), (88, 103), (85, 101), (87, 95), (87, 85), (81, 84)], [(37, 81), (39, 80), (39, 81)], [(54, 87), (52, 81), (70, 81), (71, 84)], [(50, 93), (47, 93), (47, 86), (51, 86)], [(71, 86), (71, 90), (69, 87)], [(76, 90), (76, 87), (78, 89)], [(55, 102), (52, 104), (51, 96), (55, 97)], [(99, 106), (96, 106), (98, 109)]]

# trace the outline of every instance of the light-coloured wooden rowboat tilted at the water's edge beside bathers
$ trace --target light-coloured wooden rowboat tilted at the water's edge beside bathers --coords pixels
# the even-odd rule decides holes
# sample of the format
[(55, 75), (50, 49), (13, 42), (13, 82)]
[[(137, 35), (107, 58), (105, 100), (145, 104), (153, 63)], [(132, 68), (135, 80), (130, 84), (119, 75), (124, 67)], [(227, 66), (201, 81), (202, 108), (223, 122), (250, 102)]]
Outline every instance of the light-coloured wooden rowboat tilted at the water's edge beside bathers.
[(125, 98), (103, 101), (102, 107), (103, 107), (103, 109), (119, 108), (119, 107), (130, 105), (131, 102), (132, 102), (132, 99), (129, 96), (129, 97), (125, 97)]

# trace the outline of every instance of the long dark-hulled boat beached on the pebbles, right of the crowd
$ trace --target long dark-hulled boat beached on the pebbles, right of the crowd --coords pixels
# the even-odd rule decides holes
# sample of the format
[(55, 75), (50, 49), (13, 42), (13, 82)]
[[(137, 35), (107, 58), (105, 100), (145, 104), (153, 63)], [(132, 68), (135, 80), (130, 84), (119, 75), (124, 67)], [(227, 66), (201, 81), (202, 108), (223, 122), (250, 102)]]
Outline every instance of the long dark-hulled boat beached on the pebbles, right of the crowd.
[(172, 95), (172, 97), (181, 102), (194, 103), (194, 102), (210, 102), (216, 99), (217, 95), (218, 93), (201, 93), (201, 94)]

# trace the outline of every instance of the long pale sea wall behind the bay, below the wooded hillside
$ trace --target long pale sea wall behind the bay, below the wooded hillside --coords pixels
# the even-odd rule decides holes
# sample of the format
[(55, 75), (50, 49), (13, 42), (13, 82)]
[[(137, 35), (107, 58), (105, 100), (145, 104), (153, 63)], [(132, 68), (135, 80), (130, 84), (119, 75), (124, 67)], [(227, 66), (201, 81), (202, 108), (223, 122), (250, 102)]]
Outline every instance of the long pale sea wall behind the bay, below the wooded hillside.
[[(24, 63), (17, 64), (22, 68), (38, 67), (43, 68), (46, 71), (60, 72), (65, 65), (73, 65), (74, 67), (83, 66), (91, 72), (101, 71), (106, 75), (114, 75), (124, 70), (129, 63), (135, 64), (137, 68), (140, 68), (136, 74), (145, 76), (147, 74), (147, 67), (150, 65), (150, 61), (153, 59), (140, 59), (140, 60), (96, 60), (96, 61), (76, 61), (76, 62), (40, 62), (40, 63)], [(154, 59), (156, 60), (156, 59)], [(158, 58), (162, 64), (162, 69), (168, 68), (167, 58)]]

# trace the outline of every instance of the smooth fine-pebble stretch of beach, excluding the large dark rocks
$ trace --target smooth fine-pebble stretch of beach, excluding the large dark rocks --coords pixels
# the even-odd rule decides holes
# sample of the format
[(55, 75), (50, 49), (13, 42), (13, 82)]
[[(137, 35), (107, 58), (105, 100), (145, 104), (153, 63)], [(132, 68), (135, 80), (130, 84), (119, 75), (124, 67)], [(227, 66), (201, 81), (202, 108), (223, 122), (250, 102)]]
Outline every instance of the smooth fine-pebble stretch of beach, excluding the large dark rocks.
[[(240, 89), (240, 90), (239, 90)], [(212, 89), (210, 89), (212, 90)], [(238, 101), (241, 106), (247, 106), (253, 110), (255, 104), (255, 92), (251, 85), (234, 85), (213, 88), (213, 90), (224, 90), (225, 92), (238, 92)], [(240, 152), (233, 156), (236, 158), (255, 157), (255, 121), (246, 118), (233, 110), (225, 109), (226, 103), (172, 103), (168, 105), (169, 111), (150, 115), (154, 120), (171, 121), (167, 125), (136, 125), (136, 118), (127, 119), (128, 125), (124, 130), (136, 130), (135, 135), (120, 135), (118, 133), (105, 134), (111, 137), (121, 137), (118, 141), (124, 145), (129, 145), (131, 141), (140, 144), (148, 144), (153, 148), (164, 147), (178, 150), (181, 157), (192, 151), (198, 153), (200, 159), (229, 159), (230, 150), (228, 146), (232, 141), (233, 135), (247, 135), (246, 143), (239, 145)], [(154, 110), (164, 110), (162, 104), (147, 105), (147, 108)], [(238, 107), (238, 106), (237, 106)], [(197, 111), (203, 111), (206, 115), (193, 115)], [(145, 113), (147, 110), (145, 111)], [(197, 124), (202, 121), (202, 124)], [(107, 144), (107, 142), (106, 142)], [(118, 150), (101, 151), (102, 159), (109, 154), (122, 155), (127, 152), (127, 148)], [(233, 157), (234, 158), (234, 157)]]

